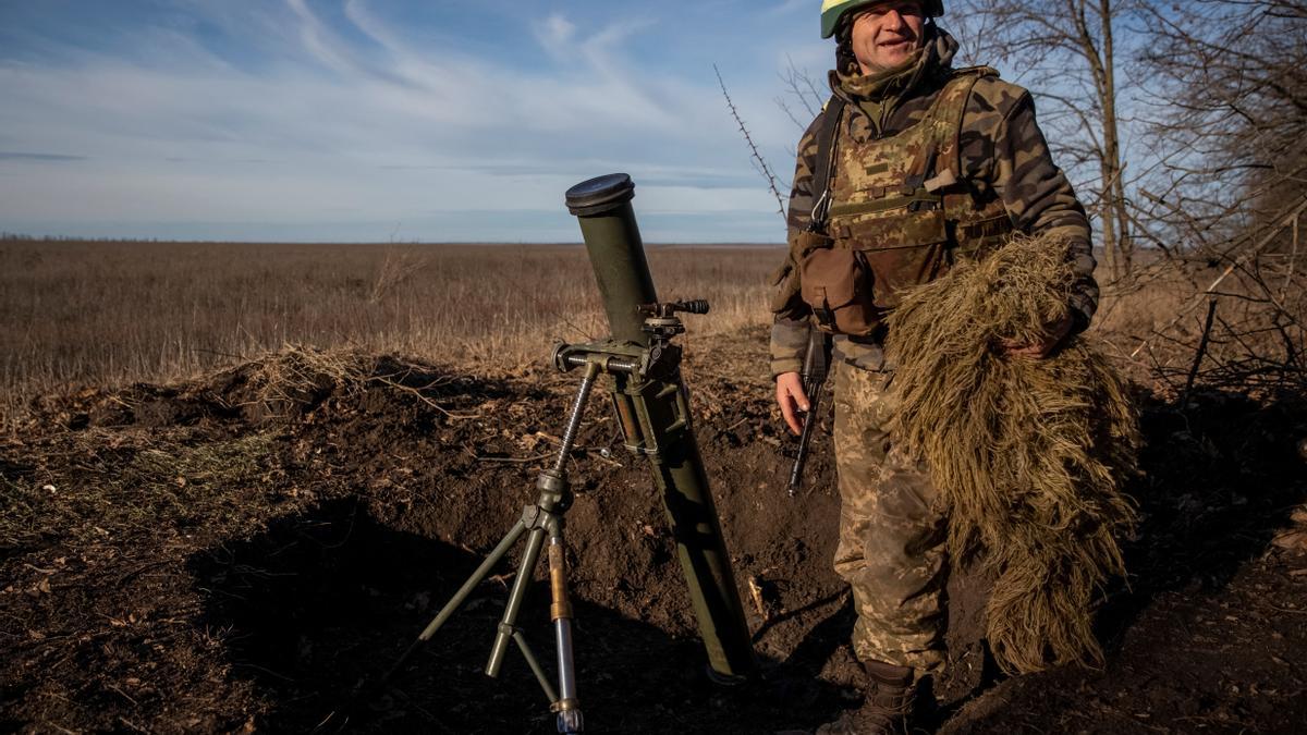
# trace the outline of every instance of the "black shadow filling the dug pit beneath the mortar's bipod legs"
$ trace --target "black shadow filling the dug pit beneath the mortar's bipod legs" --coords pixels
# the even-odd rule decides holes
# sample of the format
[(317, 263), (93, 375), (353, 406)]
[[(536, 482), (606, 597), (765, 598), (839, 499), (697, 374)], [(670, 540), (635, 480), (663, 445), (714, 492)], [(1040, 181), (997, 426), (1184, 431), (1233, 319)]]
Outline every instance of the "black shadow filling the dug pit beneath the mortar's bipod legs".
[[(400, 655), (481, 557), (379, 523), (353, 498), (272, 522), (248, 540), (190, 560), (205, 594), (203, 625), (225, 636), (233, 676), (256, 689), (272, 731), (554, 732), (544, 693), (510, 650), (499, 680), (485, 667), (507, 598), (481, 585), (382, 691), (370, 684)], [(510, 572), (508, 564), (497, 573)], [(553, 671), (548, 589), (537, 579), (519, 623)], [(804, 667), (719, 688), (695, 638), (673, 638), (612, 609), (576, 603), (580, 698), (589, 727), (610, 732), (812, 728), (840, 706)], [(808, 680), (802, 706), (778, 696)], [(352, 702), (352, 694), (367, 696)], [(819, 705), (819, 706), (813, 706)], [(325, 725), (324, 725), (325, 723)]]

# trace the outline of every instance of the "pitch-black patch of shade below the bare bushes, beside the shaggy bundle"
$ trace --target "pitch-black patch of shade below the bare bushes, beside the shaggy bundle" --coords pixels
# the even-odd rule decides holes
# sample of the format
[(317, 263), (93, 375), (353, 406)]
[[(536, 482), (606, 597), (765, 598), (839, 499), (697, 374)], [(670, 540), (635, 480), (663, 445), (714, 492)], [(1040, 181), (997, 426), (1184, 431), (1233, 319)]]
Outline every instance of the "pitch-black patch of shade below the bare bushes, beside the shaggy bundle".
[(1125, 547), (1129, 583), (1099, 612), (1108, 647), (1158, 595), (1222, 589), (1307, 502), (1295, 447), (1307, 433), (1304, 411), (1300, 400), (1261, 404), (1219, 391), (1183, 408), (1144, 403), (1142, 475), (1128, 488), (1141, 523)]

